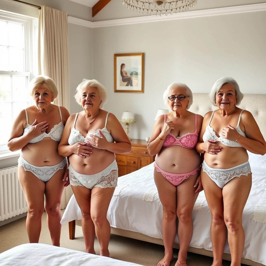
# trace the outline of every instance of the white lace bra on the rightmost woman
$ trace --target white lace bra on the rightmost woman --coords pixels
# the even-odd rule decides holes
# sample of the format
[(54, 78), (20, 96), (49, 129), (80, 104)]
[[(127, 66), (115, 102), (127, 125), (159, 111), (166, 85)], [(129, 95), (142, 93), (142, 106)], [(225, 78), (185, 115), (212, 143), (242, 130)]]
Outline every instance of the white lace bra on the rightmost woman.
[[(244, 110), (242, 110), (240, 115), (239, 115), (238, 123), (237, 123), (237, 126), (235, 127), (235, 129), (240, 135), (242, 135), (243, 137), (246, 137), (246, 134), (239, 127), (239, 122), (240, 122), (241, 114), (243, 111)], [(223, 137), (218, 138), (216, 136), (215, 132), (213, 131), (213, 128), (210, 126), (211, 119), (213, 118), (214, 112), (215, 112), (215, 110), (211, 114), (209, 125), (206, 127), (205, 132), (203, 134), (203, 141), (205, 142), (206, 140), (217, 140), (218, 142), (221, 142), (222, 144), (224, 144), (227, 147), (242, 147), (238, 142), (236, 142), (234, 140), (225, 139)]]

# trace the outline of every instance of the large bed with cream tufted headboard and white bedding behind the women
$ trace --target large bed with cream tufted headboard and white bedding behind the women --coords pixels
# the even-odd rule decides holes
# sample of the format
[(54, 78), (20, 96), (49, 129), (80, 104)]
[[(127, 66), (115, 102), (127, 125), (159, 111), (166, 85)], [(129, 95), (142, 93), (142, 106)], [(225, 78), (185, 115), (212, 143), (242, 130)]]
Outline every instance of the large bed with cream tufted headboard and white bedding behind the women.
[[(266, 138), (266, 94), (245, 94), (242, 109), (250, 111)], [(214, 110), (207, 94), (193, 94), (190, 111), (204, 115)], [(242, 263), (252, 266), (266, 264), (266, 155), (249, 153), (253, 172), (250, 196), (243, 212), (243, 227), (246, 235)], [(111, 199), (107, 219), (111, 233), (163, 244), (161, 233), (162, 206), (153, 181), (153, 164), (119, 177), (118, 186)], [(210, 239), (211, 214), (204, 192), (200, 192), (193, 210), (193, 236), (189, 251), (212, 256)], [(64, 212), (61, 224), (69, 223), (70, 239), (74, 238), (75, 225), (81, 225), (81, 211), (74, 195)], [(176, 235), (174, 248), (178, 248)], [(228, 242), (224, 259), (231, 260)]]

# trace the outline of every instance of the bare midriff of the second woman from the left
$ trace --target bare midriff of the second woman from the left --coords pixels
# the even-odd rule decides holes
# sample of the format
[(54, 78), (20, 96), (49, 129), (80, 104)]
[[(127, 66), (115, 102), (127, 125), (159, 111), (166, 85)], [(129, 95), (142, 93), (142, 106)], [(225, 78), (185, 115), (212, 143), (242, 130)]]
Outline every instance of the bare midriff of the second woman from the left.
[(69, 156), (69, 163), (80, 174), (97, 174), (106, 169), (115, 160), (115, 154), (105, 149), (90, 149), (92, 153), (82, 158), (74, 153)]

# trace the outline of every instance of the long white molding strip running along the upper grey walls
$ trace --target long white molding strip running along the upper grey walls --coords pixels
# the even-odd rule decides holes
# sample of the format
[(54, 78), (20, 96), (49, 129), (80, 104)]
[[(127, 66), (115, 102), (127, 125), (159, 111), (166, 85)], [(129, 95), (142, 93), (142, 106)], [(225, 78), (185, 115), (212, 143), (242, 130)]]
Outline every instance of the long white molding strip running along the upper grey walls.
[(101, 28), (101, 27), (111, 27), (111, 26), (121, 26), (128, 24), (138, 24), (138, 23), (148, 23), (148, 22), (160, 22), (167, 20), (177, 20), (177, 19), (188, 19), (188, 18), (201, 18), (207, 16), (218, 16), (218, 15), (228, 15), (228, 14), (239, 14), (239, 13), (248, 13), (256, 11), (266, 11), (266, 3), (252, 4), (252, 5), (243, 5), (243, 6), (230, 6), (230, 7), (219, 7), (213, 9), (203, 9), (195, 11), (186, 11), (173, 15), (165, 16), (140, 16), (133, 18), (123, 18), (123, 19), (112, 19), (112, 20), (103, 20), (103, 21), (87, 21), (83, 19), (78, 19), (74, 17), (68, 17), (69, 23), (74, 23), (77, 25), (90, 27), (90, 28)]

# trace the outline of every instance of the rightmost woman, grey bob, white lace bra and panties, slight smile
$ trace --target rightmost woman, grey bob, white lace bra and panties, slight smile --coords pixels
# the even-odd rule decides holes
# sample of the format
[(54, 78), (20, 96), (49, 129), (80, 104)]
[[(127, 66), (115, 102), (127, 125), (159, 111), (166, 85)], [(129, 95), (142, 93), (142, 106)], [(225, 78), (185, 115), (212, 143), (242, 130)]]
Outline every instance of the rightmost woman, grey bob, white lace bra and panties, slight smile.
[(222, 265), (227, 228), (231, 265), (240, 266), (242, 213), (252, 184), (247, 150), (264, 155), (266, 143), (252, 114), (236, 107), (243, 94), (233, 78), (217, 80), (209, 96), (218, 110), (205, 115), (196, 148), (204, 153), (201, 177), (211, 211), (212, 265)]

